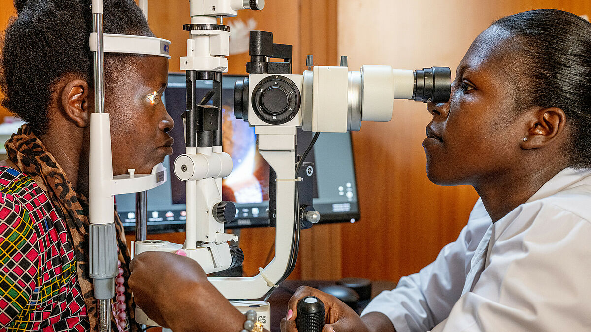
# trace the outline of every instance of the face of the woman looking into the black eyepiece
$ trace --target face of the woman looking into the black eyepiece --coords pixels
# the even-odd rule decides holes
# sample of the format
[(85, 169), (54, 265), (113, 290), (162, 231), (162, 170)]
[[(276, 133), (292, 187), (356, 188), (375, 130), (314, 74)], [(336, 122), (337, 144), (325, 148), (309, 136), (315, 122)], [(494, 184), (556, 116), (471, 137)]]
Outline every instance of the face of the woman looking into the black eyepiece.
[(423, 146), (433, 183), (478, 187), (510, 171), (519, 159), (519, 143), (527, 134), (517, 121), (512, 91), (519, 54), (508, 31), (488, 28), (457, 67), (449, 102), (427, 103), (433, 119)]

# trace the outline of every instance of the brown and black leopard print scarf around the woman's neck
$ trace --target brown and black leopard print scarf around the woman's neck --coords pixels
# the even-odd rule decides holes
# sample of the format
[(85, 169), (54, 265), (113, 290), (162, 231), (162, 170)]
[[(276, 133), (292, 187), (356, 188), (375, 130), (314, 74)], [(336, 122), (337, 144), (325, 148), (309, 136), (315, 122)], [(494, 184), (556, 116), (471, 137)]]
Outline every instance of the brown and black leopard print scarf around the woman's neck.
[[(93, 297), (92, 279), (88, 274), (88, 198), (77, 192), (66, 174), (53, 156), (47, 152), (43, 142), (28, 128), (23, 125), (16, 134), (6, 142), (9, 160), (11, 160), (21, 172), (29, 175), (35, 183), (48, 194), (51, 202), (56, 207), (57, 213), (66, 221), (69, 228), (69, 241), (72, 243), (76, 255), (76, 270), (80, 289), (85, 299), (86, 313), (92, 331), (97, 330), (96, 299)], [(119, 216), (115, 213), (115, 227), (118, 232), (117, 243), (119, 247), (119, 261), (124, 269), (125, 298), (128, 310), (128, 324), (125, 331), (137, 331), (138, 326), (134, 320), (132, 310), (131, 292), (127, 286), (129, 278), (129, 254), (125, 243), (125, 234)], [(117, 324), (112, 318), (112, 329), (118, 331)]]

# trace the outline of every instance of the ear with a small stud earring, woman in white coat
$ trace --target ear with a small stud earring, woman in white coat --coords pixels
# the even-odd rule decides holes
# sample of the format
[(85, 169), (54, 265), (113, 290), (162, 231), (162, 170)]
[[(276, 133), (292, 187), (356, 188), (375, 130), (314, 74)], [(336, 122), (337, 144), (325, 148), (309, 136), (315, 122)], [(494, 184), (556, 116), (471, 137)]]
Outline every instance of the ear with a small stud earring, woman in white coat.
[(566, 115), (560, 108), (543, 108), (528, 113), (526, 134), (520, 142), (522, 149), (541, 148), (558, 139), (566, 125)]

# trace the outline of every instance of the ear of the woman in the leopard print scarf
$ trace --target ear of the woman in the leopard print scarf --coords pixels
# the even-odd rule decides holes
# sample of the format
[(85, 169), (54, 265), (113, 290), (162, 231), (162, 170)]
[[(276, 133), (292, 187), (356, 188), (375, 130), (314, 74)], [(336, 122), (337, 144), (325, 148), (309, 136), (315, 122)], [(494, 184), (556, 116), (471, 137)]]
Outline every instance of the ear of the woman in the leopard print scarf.
[(89, 86), (85, 80), (73, 79), (66, 82), (61, 90), (61, 106), (64, 116), (80, 128), (89, 124)]

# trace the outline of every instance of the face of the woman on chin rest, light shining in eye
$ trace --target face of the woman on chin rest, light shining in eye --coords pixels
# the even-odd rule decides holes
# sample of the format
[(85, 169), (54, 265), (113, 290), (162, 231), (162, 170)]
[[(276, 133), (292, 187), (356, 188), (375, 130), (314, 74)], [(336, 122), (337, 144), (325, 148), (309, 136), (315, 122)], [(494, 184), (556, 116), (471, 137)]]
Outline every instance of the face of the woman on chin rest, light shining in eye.
[(168, 83), (168, 59), (141, 57), (124, 71), (105, 103), (111, 116), (113, 174), (129, 168), (147, 174), (173, 153), (168, 131), (174, 121), (161, 101)]

